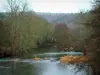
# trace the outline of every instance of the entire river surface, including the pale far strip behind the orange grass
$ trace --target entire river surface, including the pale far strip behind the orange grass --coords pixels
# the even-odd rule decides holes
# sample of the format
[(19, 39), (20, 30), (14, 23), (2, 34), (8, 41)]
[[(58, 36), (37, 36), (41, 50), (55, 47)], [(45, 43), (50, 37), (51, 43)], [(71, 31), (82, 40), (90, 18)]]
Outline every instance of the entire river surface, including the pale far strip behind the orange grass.
[[(63, 64), (63, 55), (82, 55), (76, 52), (37, 54), (41, 60), (0, 59), (0, 75), (91, 75), (86, 64)], [(35, 55), (36, 56), (36, 55)], [(47, 57), (48, 60), (43, 58)]]

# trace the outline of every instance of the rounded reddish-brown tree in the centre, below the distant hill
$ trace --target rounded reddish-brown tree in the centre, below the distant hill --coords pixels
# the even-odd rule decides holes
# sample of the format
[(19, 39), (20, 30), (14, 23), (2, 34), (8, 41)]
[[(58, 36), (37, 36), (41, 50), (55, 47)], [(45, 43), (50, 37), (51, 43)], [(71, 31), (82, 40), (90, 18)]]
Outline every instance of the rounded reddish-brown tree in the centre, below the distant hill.
[(66, 24), (57, 24), (55, 26), (54, 38), (56, 39), (56, 46), (58, 49), (72, 47), (75, 41), (74, 36), (72, 36)]

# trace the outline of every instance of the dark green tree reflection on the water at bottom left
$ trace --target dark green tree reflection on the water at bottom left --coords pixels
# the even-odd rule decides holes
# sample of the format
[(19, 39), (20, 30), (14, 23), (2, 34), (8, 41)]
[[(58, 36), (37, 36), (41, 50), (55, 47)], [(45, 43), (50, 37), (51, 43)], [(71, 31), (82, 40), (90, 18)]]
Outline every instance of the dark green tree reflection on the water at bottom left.
[(39, 75), (38, 69), (33, 64), (2, 62), (0, 66), (0, 75)]

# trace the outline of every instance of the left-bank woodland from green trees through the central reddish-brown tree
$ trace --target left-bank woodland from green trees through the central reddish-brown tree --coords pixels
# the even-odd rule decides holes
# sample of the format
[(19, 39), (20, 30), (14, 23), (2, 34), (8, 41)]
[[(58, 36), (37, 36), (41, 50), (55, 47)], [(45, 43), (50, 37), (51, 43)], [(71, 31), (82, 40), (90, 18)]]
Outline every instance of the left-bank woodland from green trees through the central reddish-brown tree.
[(0, 57), (22, 57), (42, 48), (59, 51), (74, 46), (80, 49), (76, 44), (79, 43), (77, 35), (66, 23), (49, 22), (38, 13), (29, 11), (27, 3), (19, 5), (17, 0), (7, 0), (7, 4), (9, 10), (0, 13)]

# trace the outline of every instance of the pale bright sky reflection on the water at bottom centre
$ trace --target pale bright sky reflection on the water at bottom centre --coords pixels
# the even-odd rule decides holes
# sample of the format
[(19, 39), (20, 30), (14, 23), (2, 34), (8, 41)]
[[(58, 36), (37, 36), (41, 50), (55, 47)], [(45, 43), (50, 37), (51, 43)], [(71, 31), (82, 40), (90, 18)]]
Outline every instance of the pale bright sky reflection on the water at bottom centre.
[(48, 68), (42, 75), (87, 75), (85, 69), (76, 73), (75, 68), (78, 68), (76, 65), (52, 63), (47, 66)]

